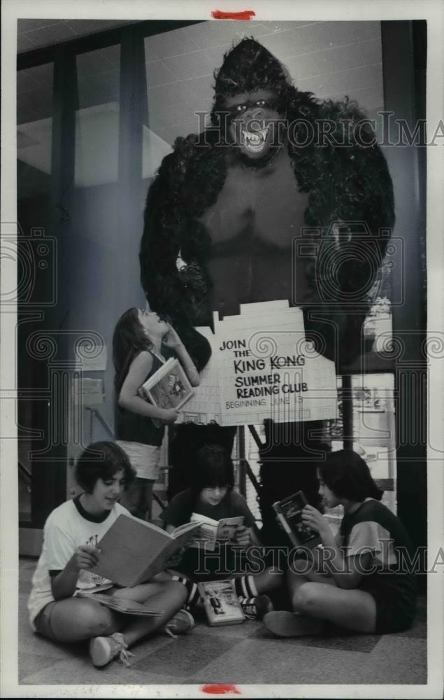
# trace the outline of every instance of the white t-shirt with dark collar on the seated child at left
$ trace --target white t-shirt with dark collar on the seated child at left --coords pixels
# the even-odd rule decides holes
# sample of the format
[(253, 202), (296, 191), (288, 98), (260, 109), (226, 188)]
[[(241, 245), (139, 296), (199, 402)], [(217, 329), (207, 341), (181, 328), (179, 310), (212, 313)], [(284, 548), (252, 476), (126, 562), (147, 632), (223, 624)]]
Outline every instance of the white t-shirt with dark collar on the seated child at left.
[[(110, 526), (122, 514), (129, 514), (120, 503), (115, 503), (101, 522), (96, 522), (78, 501), (68, 500), (55, 508), (45, 522), (43, 548), (32, 577), (31, 595), (28, 600), (29, 622), (35, 630), (34, 620), (45, 605), (54, 601), (51, 591), (50, 571), (62, 571), (80, 545), (96, 547)], [(108, 580), (80, 570), (76, 589), (94, 588)]]

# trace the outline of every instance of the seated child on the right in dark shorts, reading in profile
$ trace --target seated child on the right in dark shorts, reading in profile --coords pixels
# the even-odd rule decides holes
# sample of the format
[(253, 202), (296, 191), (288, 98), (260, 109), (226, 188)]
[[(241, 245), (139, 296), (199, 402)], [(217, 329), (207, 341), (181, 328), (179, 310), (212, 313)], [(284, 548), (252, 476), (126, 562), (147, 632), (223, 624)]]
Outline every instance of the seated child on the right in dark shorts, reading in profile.
[(401, 521), (380, 503), (368, 465), (356, 452), (338, 450), (318, 478), (324, 505), (344, 508), (340, 531), (335, 537), (315, 507), (303, 508), (303, 522), (319, 533), (323, 549), (290, 566), (295, 612), (268, 612), (266, 628), (282, 637), (322, 633), (326, 622), (363, 633), (408, 629), (416, 603), (413, 552)]

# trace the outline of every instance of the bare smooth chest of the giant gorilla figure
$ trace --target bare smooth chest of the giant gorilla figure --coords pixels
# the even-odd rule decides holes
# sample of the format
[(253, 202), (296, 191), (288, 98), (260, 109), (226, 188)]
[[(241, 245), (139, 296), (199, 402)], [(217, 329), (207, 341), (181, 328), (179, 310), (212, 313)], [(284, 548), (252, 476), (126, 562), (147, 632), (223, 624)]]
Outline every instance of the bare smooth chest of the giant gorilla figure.
[(217, 201), (201, 217), (211, 237), (213, 310), (236, 314), (240, 303), (292, 300), (293, 241), (307, 205), (286, 151), (268, 167), (229, 168)]

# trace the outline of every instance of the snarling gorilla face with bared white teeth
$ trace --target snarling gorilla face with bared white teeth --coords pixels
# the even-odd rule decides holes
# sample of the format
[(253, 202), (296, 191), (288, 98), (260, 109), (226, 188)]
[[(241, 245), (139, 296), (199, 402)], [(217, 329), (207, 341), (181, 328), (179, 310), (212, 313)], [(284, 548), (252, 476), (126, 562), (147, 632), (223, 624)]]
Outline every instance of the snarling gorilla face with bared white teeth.
[(268, 161), (281, 144), (283, 124), (282, 115), (276, 111), (277, 103), (278, 94), (274, 90), (227, 97), (231, 142), (250, 162)]

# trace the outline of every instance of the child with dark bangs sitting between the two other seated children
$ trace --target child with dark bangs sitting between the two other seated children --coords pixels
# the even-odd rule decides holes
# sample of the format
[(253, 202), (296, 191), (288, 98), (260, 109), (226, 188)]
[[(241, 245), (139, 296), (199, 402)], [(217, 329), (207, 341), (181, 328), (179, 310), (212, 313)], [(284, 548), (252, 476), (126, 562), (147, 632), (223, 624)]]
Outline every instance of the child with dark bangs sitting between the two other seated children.
[[(243, 525), (236, 528), (236, 541), (217, 542), (215, 552), (189, 547), (174, 566), (176, 580), (187, 585), (187, 604), (201, 605), (196, 583), (208, 580), (232, 579), (245, 617), (262, 618), (273, 610), (266, 595), (282, 585), (282, 573), (267, 568), (261, 558), (260, 542), (245, 498), (234, 491), (233, 463), (227, 451), (219, 445), (205, 445), (196, 454), (192, 486), (181, 491), (162, 512), (166, 531), (190, 521), (192, 514), (213, 520), (243, 516)], [(255, 570), (248, 571), (248, 549), (255, 547)], [(252, 551), (252, 550), (251, 550)]]

